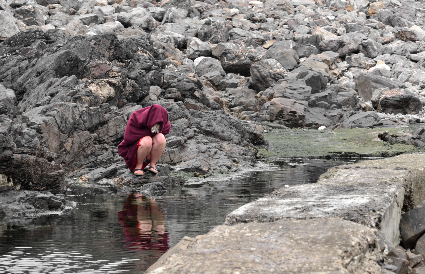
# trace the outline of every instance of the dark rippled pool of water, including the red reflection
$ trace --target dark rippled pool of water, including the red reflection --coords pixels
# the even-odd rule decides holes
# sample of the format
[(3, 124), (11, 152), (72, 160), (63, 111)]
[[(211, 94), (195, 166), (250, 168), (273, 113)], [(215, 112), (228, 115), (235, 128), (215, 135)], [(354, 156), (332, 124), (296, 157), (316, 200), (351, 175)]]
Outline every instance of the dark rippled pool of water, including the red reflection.
[(315, 183), (354, 161), (284, 159), (219, 181), (145, 197), (110, 185), (72, 183), (77, 206), (36, 219), (0, 219), (0, 273), (142, 274), (184, 236), (220, 225), (229, 212), (284, 185)]

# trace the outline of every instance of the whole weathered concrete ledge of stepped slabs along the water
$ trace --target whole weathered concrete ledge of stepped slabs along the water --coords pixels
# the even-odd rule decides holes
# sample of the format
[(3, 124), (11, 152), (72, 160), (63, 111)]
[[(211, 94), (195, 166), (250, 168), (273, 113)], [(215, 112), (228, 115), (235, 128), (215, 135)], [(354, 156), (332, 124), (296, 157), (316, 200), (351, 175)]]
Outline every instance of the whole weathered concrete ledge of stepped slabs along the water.
[(402, 209), (421, 203), (424, 189), (425, 154), (334, 167), (316, 184), (241, 206), (225, 225), (182, 240), (146, 273), (381, 273), (378, 229), (398, 243)]

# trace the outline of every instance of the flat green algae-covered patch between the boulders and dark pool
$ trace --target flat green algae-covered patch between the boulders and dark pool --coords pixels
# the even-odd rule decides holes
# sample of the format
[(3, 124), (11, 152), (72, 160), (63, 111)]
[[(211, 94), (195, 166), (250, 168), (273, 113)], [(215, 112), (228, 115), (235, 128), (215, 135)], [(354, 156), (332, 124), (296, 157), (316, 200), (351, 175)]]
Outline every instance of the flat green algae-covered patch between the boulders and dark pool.
[(418, 150), (413, 145), (382, 141), (377, 138), (378, 133), (384, 130), (390, 134), (403, 133), (407, 129), (272, 129), (264, 137), (272, 147), (273, 156), (269, 157), (388, 157)]

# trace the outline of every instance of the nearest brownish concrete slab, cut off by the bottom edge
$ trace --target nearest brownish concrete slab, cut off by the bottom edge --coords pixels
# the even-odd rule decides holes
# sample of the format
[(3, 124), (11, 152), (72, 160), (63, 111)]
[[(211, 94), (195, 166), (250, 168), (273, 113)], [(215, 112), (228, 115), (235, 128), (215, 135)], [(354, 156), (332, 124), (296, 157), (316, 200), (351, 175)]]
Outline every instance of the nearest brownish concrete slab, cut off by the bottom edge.
[(217, 226), (145, 273), (380, 273), (375, 233), (335, 218)]

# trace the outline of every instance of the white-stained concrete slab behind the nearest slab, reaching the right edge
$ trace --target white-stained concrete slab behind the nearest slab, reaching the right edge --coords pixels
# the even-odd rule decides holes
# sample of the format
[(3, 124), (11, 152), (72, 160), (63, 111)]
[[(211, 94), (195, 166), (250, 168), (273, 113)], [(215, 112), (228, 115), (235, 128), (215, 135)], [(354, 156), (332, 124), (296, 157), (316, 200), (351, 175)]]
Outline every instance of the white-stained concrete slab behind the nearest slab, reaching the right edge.
[(403, 204), (408, 210), (421, 203), (424, 189), (425, 154), (363, 161), (331, 168), (316, 184), (278, 189), (234, 210), (225, 224), (337, 217), (381, 229), (398, 243)]

